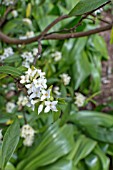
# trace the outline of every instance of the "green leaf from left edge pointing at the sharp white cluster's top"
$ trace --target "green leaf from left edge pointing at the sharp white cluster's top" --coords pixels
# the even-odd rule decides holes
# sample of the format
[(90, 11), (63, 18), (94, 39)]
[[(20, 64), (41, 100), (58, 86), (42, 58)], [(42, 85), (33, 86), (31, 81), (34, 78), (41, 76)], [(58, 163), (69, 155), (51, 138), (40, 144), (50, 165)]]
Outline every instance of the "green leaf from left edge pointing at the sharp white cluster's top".
[(17, 68), (11, 66), (1, 66), (0, 73), (5, 73), (8, 75), (11, 74), (14, 76), (20, 76), (22, 74)]

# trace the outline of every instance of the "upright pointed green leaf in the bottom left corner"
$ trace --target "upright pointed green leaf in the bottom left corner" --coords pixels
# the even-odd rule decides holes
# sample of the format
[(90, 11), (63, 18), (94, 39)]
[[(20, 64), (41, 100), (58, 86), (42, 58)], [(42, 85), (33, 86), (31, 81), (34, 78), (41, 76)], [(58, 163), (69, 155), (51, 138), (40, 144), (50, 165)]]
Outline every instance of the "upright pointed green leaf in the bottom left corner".
[(16, 146), (19, 141), (20, 136), (20, 126), (19, 121), (16, 118), (7, 129), (5, 136), (3, 138), (2, 145), (2, 169), (6, 166), (7, 162), (10, 160), (12, 154), (14, 153)]

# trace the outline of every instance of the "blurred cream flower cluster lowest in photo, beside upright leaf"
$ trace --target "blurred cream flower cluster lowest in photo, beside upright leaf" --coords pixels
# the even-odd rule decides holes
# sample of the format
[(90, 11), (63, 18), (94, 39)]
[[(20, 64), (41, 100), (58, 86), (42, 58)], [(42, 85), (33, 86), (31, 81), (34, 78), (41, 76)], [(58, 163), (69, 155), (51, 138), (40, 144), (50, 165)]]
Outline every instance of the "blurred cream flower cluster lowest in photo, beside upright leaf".
[(23, 144), (25, 146), (32, 146), (34, 142), (35, 130), (28, 124), (23, 125), (21, 129), (21, 137), (24, 138)]

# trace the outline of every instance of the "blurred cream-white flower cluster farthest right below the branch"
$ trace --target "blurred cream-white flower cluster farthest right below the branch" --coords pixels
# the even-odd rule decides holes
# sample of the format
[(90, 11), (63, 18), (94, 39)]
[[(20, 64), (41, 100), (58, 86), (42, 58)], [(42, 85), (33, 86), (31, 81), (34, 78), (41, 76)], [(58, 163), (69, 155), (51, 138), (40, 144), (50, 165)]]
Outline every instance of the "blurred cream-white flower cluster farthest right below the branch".
[(85, 102), (85, 99), (86, 97), (81, 94), (81, 93), (75, 93), (76, 95), (76, 101), (75, 101), (75, 104), (78, 106), (78, 107), (82, 107), (84, 105), (84, 102)]

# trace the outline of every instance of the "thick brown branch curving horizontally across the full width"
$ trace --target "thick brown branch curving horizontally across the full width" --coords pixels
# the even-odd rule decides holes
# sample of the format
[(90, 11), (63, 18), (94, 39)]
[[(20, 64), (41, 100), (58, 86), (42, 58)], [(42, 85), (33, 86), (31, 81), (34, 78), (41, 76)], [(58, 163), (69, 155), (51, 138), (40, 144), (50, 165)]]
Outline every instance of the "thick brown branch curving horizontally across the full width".
[[(84, 32), (76, 32), (76, 33), (68, 33), (68, 34), (49, 33), (49, 34), (46, 34), (44, 38), (42, 38), (42, 40), (64, 40), (64, 39), (69, 39), (69, 38), (85, 37), (85, 36), (89, 36), (92, 34), (110, 30), (112, 26), (113, 26), (113, 23), (100, 27), (100, 28), (90, 30), (90, 31), (84, 31)], [(40, 40), (40, 35), (33, 37), (33, 38), (28, 38), (26, 40), (20, 40), (20, 39), (10, 38), (0, 31), (0, 39), (3, 42), (8, 43), (8, 44), (30, 44), (30, 43)]]

